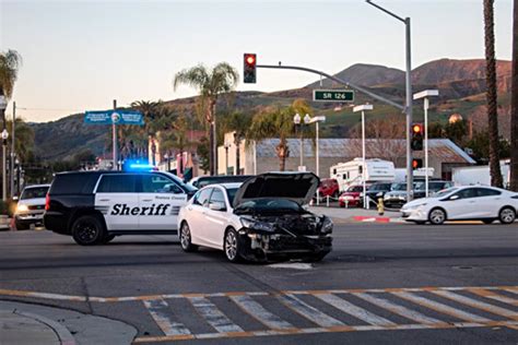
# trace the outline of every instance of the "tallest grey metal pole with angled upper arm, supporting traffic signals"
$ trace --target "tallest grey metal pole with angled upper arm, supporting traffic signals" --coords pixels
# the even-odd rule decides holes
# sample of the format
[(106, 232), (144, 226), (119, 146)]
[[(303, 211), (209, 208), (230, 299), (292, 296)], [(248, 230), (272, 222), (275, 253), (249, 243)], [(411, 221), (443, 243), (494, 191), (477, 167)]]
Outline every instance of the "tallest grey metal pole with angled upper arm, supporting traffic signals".
[(374, 3), (372, 0), (365, 0), (368, 4), (372, 4), (376, 9), (387, 13), (390, 16), (393, 16), (400, 22), (404, 23), (405, 26), (405, 55), (407, 55), (407, 106), (404, 112), (407, 114), (407, 200), (412, 200), (412, 186), (413, 186), (413, 170), (412, 170), (412, 150), (410, 150), (410, 127), (412, 126), (412, 80), (411, 80), (411, 58), (412, 52), (410, 49), (410, 17), (402, 19), (401, 16), (384, 9), (379, 4)]

